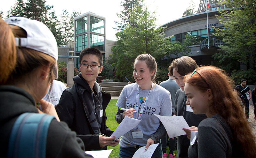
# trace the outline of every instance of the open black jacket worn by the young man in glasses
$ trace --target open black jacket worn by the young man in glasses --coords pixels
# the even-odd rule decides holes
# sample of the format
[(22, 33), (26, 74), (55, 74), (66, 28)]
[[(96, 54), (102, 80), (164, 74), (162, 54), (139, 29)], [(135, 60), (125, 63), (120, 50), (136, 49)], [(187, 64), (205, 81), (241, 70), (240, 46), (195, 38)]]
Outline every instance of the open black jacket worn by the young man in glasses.
[[(101, 91), (100, 85), (94, 83), (94, 94), (88, 83), (82, 77), (81, 73), (73, 78), (75, 84), (64, 90), (58, 105), (55, 106), (57, 114), (61, 121), (65, 121), (71, 130), (77, 133), (77, 137), (84, 142), (85, 151), (105, 150), (107, 147), (100, 147), (99, 134), (96, 134), (92, 128), (88, 108), (94, 109), (102, 102), (103, 117), (101, 117), (100, 132), (110, 136), (111, 131), (106, 126), (106, 113), (108, 102), (111, 99), (110, 94)], [(95, 114), (97, 117), (97, 114)]]

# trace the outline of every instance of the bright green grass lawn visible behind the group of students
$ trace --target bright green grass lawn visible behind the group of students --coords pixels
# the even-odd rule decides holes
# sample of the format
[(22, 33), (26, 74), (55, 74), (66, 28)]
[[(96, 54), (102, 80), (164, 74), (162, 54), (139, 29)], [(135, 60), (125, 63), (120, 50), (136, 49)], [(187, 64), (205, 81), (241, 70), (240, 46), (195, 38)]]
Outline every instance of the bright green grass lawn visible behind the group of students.
[[(110, 102), (108, 103), (108, 107), (106, 109), (106, 115), (107, 115), (107, 121), (106, 125), (112, 130), (115, 131), (117, 126), (119, 125), (116, 122), (116, 111), (117, 111), (117, 106), (116, 106), (117, 99), (111, 99)], [(120, 139), (120, 138), (119, 138)], [(169, 154), (169, 147), (167, 147), (166, 151), (167, 154)], [(113, 149), (111, 154), (109, 155), (109, 158), (118, 158), (118, 152), (119, 152), (119, 144), (116, 147), (108, 147), (108, 149)], [(174, 151), (174, 154), (177, 155), (177, 150)], [(175, 156), (176, 158), (177, 156)]]

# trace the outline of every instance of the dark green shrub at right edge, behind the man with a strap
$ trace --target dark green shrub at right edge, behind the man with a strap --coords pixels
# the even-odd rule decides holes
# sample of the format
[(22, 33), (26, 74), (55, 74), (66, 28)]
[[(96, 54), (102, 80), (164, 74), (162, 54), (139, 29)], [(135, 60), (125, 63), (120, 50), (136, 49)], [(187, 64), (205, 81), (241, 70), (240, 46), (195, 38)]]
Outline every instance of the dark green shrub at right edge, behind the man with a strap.
[[(246, 85), (256, 85), (256, 71), (253, 69), (249, 70), (233, 70), (230, 78), (234, 80), (235, 85), (240, 85), (241, 79), (246, 79)], [(225, 83), (224, 83), (225, 84)]]

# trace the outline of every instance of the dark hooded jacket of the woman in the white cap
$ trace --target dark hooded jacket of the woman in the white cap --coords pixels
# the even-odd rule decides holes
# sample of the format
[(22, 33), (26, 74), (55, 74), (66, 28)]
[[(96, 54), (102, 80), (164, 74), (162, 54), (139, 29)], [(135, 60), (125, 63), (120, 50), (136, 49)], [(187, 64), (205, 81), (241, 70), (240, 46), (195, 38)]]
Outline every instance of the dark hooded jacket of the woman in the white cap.
[[(12, 126), (25, 112), (38, 113), (33, 97), (22, 88), (0, 86), (0, 153), (6, 157)], [(65, 122), (53, 119), (48, 130), (46, 157), (92, 157), (84, 153), (84, 144)]]

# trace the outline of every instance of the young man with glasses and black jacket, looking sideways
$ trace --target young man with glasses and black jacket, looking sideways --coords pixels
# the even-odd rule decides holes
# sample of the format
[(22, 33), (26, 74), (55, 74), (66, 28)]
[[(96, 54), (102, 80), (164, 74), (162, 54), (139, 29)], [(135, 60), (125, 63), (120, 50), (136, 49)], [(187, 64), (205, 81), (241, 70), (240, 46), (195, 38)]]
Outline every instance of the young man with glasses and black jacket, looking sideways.
[(102, 54), (98, 49), (83, 49), (78, 65), (81, 72), (73, 77), (75, 84), (63, 91), (59, 104), (55, 106), (60, 120), (83, 140), (85, 151), (106, 150), (107, 146), (114, 147), (119, 141), (109, 137), (113, 131), (106, 126), (105, 110), (111, 96), (102, 92), (95, 81), (103, 69), (102, 64)]

